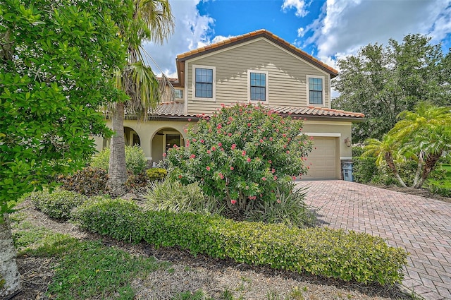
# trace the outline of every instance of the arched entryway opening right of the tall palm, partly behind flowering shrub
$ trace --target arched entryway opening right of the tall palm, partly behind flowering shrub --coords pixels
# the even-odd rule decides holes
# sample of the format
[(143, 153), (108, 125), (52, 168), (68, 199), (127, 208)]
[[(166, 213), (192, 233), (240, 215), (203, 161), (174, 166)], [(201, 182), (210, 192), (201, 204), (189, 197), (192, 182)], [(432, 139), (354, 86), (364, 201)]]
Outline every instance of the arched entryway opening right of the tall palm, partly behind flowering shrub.
[(157, 164), (163, 160), (163, 153), (166, 153), (174, 145), (180, 147), (185, 145), (183, 135), (175, 128), (161, 128), (152, 138), (152, 161)]

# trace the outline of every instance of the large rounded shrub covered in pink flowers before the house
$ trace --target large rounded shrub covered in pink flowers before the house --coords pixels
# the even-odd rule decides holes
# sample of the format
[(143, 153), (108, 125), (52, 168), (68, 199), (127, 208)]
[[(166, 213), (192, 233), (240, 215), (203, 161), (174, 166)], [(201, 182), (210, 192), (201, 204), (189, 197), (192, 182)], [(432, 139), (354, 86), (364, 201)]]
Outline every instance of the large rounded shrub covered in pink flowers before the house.
[(302, 121), (261, 104), (235, 104), (190, 125), (186, 147), (169, 150), (167, 160), (173, 179), (198, 181), (206, 195), (245, 215), (258, 203), (277, 203), (276, 191), (290, 193), (310, 151)]

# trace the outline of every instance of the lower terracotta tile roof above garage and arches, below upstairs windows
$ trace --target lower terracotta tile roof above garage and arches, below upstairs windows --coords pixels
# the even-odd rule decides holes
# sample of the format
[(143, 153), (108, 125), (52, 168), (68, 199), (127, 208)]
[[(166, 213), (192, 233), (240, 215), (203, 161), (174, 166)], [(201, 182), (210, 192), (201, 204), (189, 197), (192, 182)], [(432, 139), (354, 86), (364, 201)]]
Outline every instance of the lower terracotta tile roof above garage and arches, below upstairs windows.
[[(350, 119), (364, 119), (364, 114), (357, 112), (345, 112), (338, 109), (328, 109), (325, 107), (278, 107), (271, 105), (264, 105), (269, 109), (273, 109), (280, 114), (292, 114), (296, 116), (320, 116), (320, 117), (334, 117), (334, 118), (350, 118)], [(194, 114), (185, 114), (184, 102), (163, 102), (152, 113), (153, 116), (165, 117), (190, 117), (196, 118)], [(208, 115), (208, 114), (207, 114)], [(151, 116), (152, 118), (152, 116)]]

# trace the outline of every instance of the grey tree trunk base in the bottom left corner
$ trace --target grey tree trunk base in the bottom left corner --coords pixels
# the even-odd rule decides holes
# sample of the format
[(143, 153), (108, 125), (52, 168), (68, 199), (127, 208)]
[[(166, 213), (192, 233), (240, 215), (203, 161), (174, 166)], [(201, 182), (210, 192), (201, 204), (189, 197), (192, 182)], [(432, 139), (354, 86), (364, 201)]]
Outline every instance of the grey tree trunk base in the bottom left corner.
[(20, 274), (16, 263), (16, 248), (8, 214), (4, 214), (0, 224), (0, 298), (13, 294), (20, 289)]

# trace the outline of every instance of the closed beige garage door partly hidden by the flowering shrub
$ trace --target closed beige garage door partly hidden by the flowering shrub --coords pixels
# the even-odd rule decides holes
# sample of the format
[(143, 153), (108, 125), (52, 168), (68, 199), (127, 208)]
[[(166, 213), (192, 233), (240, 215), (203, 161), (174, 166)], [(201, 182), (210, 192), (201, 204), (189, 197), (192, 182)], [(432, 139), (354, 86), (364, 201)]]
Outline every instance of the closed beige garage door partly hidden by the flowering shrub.
[[(309, 172), (302, 179), (339, 179), (338, 138), (314, 137), (313, 149), (307, 157)], [(310, 165), (311, 164), (311, 165)]]

